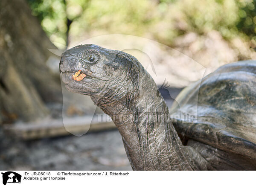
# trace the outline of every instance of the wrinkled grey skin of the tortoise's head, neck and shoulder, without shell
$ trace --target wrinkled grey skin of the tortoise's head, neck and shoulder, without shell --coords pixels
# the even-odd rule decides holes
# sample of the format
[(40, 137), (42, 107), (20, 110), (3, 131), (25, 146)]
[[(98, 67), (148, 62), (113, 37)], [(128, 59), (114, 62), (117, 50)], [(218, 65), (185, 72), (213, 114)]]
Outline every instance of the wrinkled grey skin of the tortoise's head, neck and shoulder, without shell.
[[(157, 85), (133, 56), (80, 45), (63, 52), (59, 69), (68, 90), (90, 96), (111, 116), (134, 170), (256, 169), (255, 161), (200, 140), (183, 145)], [(72, 79), (78, 70), (87, 75), (82, 81)]]

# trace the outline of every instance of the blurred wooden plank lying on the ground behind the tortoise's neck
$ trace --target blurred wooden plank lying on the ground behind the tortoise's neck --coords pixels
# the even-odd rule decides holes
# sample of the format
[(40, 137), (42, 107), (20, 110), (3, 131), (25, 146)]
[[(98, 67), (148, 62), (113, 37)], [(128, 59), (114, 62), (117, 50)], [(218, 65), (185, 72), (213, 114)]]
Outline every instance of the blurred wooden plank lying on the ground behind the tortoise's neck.
[(21, 139), (39, 139), (76, 134), (77, 136), (91, 131), (102, 131), (116, 128), (112, 121), (98, 122), (98, 117), (83, 116), (69, 119), (46, 119), (38, 122), (19, 122), (5, 124), (6, 133)]

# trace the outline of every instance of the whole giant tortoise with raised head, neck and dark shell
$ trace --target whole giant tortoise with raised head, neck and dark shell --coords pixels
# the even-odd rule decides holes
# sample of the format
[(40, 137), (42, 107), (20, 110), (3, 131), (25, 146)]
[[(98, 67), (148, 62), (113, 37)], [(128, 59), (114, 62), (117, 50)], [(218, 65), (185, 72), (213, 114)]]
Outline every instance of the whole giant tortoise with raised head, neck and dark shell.
[[(132, 169), (256, 170), (256, 61), (220, 67), (169, 109), (125, 52), (75, 46), (62, 53), (59, 69), (68, 90), (90, 96), (112, 117)], [(171, 115), (195, 117), (172, 122)]]

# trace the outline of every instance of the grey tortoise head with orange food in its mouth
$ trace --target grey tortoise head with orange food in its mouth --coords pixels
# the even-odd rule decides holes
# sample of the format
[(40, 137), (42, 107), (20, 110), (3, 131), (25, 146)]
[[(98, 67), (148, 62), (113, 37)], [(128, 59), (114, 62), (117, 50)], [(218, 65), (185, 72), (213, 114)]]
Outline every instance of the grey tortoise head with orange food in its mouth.
[(99, 100), (131, 92), (140, 66), (125, 52), (86, 44), (63, 52), (59, 70), (68, 90)]

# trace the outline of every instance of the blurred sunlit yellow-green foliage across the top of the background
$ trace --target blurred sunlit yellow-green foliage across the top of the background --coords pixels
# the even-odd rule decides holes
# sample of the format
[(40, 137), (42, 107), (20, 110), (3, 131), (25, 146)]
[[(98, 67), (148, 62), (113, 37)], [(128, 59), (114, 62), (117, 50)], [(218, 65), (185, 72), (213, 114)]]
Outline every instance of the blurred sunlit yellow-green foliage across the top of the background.
[[(256, 0), (28, 0), (52, 42), (81, 35), (130, 34), (167, 45), (186, 32), (217, 30), (256, 46)], [(70, 28), (68, 21), (70, 20)]]

